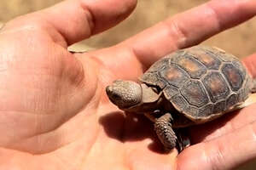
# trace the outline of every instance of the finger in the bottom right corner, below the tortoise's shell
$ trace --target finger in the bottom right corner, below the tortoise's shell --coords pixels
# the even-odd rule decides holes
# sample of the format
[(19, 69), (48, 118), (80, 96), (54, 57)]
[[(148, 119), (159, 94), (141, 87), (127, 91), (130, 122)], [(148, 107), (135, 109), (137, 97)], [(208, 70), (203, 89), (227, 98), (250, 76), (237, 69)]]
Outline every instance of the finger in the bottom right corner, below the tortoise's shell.
[(177, 157), (177, 167), (181, 170), (233, 169), (256, 156), (256, 123), (241, 127), (218, 139), (195, 144)]

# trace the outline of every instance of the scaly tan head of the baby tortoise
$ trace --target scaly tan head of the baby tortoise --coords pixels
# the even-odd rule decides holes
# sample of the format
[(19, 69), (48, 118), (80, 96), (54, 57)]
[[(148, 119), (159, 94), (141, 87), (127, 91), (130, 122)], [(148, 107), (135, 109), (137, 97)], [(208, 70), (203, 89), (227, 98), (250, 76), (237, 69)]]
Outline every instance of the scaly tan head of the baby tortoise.
[(137, 82), (116, 80), (106, 88), (108, 98), (120, 109), (129, 108), (141, 102), (143, 90)]

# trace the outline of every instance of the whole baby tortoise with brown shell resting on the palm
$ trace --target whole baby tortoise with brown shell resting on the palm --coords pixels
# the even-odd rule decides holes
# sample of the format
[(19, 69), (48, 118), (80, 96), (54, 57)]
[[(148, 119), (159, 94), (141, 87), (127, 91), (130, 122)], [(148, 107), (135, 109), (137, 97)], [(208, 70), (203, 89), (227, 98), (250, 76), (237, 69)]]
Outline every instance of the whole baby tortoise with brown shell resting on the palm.
[(178, 128), (210, 122), (241, 108), (255, 87), (235, 56), (195, 46), (158, 60), (139, 83), (116, 80), (106, 91), (119, 109), (148, 116), (166, 150), (177, 146), (181, 151), (189, 140)]

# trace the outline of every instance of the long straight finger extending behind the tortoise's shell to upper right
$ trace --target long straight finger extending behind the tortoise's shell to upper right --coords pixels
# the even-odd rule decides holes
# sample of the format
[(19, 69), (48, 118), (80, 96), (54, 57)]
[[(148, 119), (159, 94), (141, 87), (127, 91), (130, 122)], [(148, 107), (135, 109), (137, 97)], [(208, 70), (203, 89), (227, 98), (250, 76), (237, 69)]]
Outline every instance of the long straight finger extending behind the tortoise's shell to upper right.
[(128, 49), (148, 66), (177, 48), (200, 43), (255, 14), (254, 0), (212, 0), (131, 37), (120, 44), (120, 48)]

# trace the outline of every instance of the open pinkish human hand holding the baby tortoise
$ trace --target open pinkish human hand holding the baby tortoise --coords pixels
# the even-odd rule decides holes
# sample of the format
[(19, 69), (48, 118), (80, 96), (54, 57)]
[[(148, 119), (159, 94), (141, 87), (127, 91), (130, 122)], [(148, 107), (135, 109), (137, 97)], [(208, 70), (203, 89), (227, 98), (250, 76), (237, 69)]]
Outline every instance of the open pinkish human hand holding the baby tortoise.
[[(254, 0), (212, 0), (110, 48), (67, 46), (124, 20), (136, 0), (71, 0), (0, 31), (0, 169), (231, 169), (256, 157), (256, 105), (190, 129), (193, 145), (163, 154), (152, 123), (124, 116), (105, 94), (177, 48), (256, 14)], [(256, 77), (256, 56), (244, 59)], [(194, 134), (194, 135), (193, 135)]]

